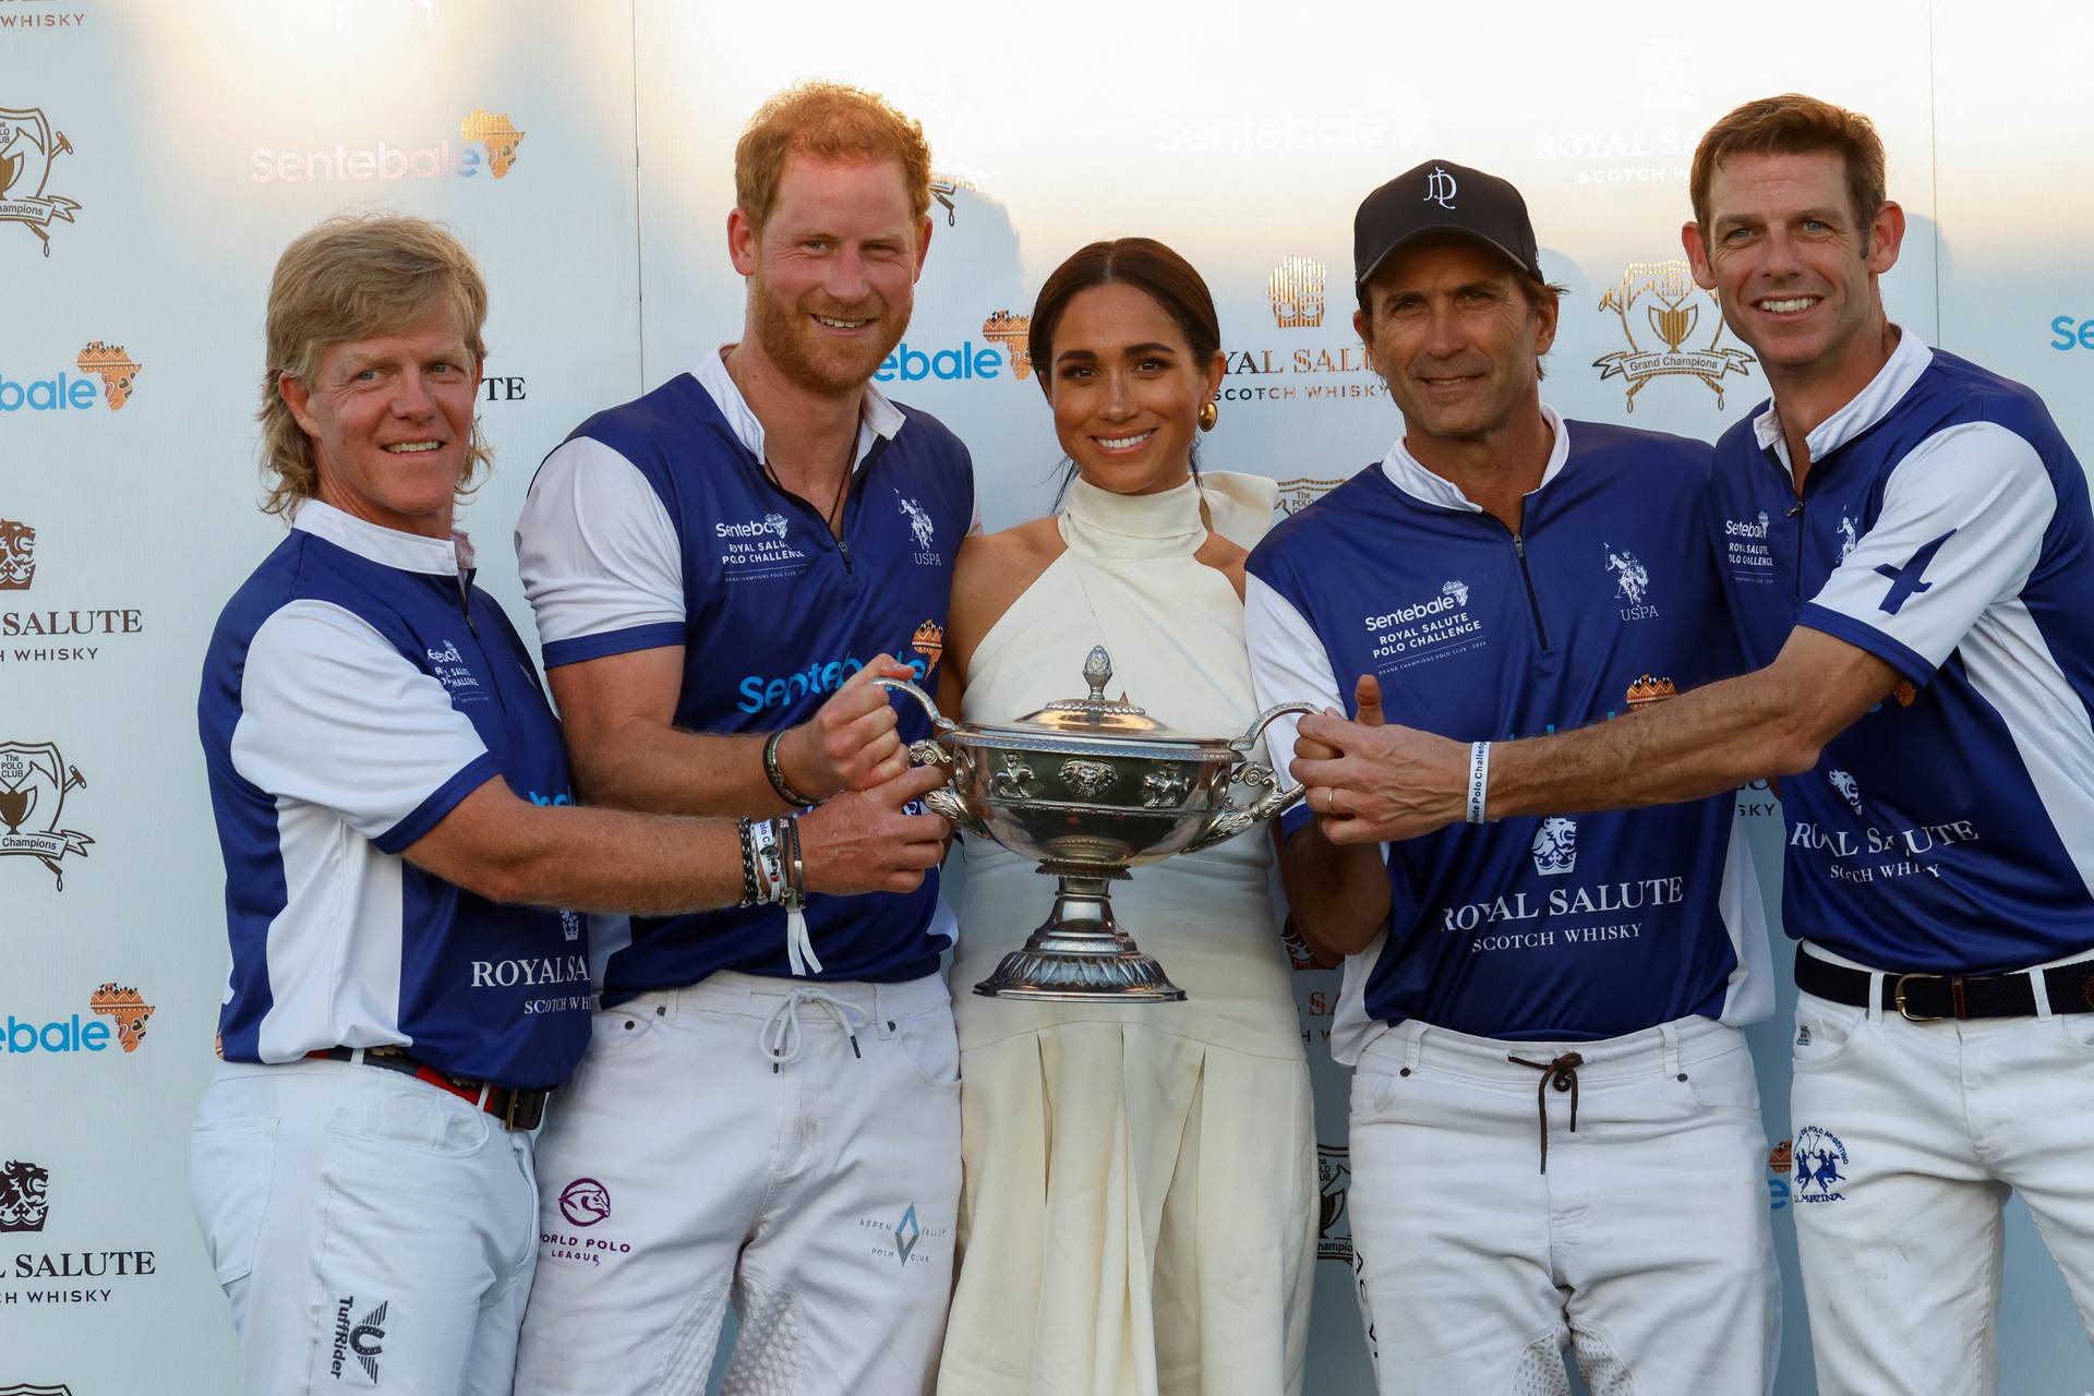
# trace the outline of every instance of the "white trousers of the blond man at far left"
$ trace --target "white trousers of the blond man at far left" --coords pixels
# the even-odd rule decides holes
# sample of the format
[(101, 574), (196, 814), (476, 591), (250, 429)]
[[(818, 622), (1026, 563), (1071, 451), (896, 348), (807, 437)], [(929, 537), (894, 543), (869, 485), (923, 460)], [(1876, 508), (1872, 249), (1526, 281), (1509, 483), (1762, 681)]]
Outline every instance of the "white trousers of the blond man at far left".
[(507, 1396), (536, 1260), (530, 1134), (398, 1072), (226, 1061), (191, 1197), (247, 1396)]

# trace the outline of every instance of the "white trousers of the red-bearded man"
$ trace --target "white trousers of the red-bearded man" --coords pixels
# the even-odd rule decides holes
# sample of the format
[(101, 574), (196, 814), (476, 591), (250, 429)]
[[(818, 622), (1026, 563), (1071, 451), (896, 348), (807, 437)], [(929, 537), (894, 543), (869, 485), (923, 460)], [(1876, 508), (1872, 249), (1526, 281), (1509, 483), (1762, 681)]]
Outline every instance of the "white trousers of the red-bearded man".
[(944, 980), (716, 973), (605, 1009), (538, 1168), (519, 1396), (697, 1396), (729, 1302), (729, 1396), (915, 1396), (959, 1210)]

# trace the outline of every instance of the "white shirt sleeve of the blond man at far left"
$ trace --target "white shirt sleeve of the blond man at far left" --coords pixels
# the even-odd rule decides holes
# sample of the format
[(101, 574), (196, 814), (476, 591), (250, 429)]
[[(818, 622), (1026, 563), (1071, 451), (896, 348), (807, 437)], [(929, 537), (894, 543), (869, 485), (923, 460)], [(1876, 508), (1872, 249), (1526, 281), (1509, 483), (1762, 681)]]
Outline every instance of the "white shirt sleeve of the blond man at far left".
[(255, 630), (232, 770), (279, 804), (333, 810), (387, 854), (498, 774), (444, 684), (327, 601), (293, 601)]

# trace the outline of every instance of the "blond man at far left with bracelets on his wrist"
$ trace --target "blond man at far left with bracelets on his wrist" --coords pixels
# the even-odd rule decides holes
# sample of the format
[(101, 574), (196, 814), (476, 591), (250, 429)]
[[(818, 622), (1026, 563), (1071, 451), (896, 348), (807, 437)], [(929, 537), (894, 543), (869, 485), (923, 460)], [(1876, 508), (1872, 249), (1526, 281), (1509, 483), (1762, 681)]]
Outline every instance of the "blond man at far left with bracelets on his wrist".
[[(270, 289), (291, 532), (197, 699), (232, 971), (191, 1180), (251, 1396), (505, 1396), (532, 1130), (591, 1028), (576, 910), (777, 890), (754, 831), (574, 808), (530, 651), (452, 532), (486, 303), (448, 232), (392, 216), (314, 228)], [(812, 890), (909, 885), (942, 829), (900, 812), (934, 781), (911, 779), (771, 841), (798, 839)]]

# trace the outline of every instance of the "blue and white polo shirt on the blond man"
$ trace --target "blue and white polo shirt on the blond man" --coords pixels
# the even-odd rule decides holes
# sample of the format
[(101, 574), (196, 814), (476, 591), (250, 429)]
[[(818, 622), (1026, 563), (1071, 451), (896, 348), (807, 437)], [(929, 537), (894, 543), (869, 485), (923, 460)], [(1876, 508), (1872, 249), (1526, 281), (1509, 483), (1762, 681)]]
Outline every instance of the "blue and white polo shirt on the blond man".
[(588, 1044), (582, 917), (505, 906), (400, 856), (500, 776), (567, 804), (567, 753), (461, 538), (306, 500), (232, 594), (197, 724), (226, 858), (226, 1061), (404, 1046), (557, 1086)]

